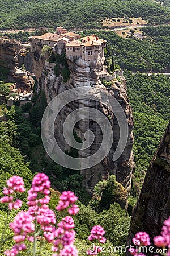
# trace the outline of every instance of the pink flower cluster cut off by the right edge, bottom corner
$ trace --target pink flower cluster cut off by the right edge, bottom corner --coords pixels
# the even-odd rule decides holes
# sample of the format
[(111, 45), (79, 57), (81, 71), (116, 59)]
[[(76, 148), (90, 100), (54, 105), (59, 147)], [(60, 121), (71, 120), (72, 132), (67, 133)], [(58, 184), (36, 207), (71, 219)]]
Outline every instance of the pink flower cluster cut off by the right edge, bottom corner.
[(158, 247), (167, 247), (168, 255), (170, 255), (170, 217), (164, 221), (161, 236), (156, 236), (154, 243)]

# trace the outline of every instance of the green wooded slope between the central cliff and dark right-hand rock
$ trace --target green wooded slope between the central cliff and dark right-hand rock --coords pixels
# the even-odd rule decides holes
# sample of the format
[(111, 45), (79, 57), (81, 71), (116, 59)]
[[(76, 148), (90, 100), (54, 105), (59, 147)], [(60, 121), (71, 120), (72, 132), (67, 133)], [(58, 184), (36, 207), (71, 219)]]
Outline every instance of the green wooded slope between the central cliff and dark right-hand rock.
[[(142, 184), (148, 165), (170, 119), (169, 76), (124, 73), (134, 116), (134, 156), (136, 181)], [(139, 188), (136, 187), (136, 192)]]

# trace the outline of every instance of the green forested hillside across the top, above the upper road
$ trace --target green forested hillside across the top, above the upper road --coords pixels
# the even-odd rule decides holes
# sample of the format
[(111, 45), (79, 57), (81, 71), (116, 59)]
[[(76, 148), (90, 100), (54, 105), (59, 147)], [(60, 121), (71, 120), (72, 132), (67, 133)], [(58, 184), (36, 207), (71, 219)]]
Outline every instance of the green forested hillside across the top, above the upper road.
[(101, 27), (100, 22), (106, 17), (134, 16), (152, 24), (164, 23), (170, 20), (170, 11), (151, 0), (2, 0), (0, 16), (0, 28), (52, 28), (59, 25), (66, 28), (95, 28)]

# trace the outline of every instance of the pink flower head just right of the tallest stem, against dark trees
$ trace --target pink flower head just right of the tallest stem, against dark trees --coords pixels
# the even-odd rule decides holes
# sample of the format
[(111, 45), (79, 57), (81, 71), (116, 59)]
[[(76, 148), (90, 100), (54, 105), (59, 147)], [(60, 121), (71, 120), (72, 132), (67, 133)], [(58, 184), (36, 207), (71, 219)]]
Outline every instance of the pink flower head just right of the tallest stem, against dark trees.
[(56, 210), (60, 212), (71, 205), (71, 208), (68, 209), (68, 212), (70, 215), (75, 215), (79, 211), (78, 206), (74, 204), (76, 200), (78, 200), (78, 197), (76, 197), (72, 191), (64, 191), (59, 197)]

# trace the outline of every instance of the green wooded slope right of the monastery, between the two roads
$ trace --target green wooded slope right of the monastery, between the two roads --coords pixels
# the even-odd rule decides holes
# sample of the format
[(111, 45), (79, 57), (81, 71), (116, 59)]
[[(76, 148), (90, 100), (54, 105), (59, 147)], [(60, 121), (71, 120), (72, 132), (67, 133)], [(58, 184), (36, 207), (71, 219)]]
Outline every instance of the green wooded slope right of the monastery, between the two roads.
[[(109, 56), (114, 56), (115, 63), (121, 68), (139, 72), (163, 72), (170, 68), (170, 27), (159, 28), (146, 27), (151, 36), (140, 40), (136, 38), (121, 38), (112, 31), (97, 31), (99, 37), (107, 40), (107, 61)], [(156, 31), (160, 36), (156, 38)], [(93, 34), (96, 31), (84, 31), (85, 34)], [(152, 39), (153, 35), (153, 39)], [(156, 39), (155, 39), (156, 38)]]

